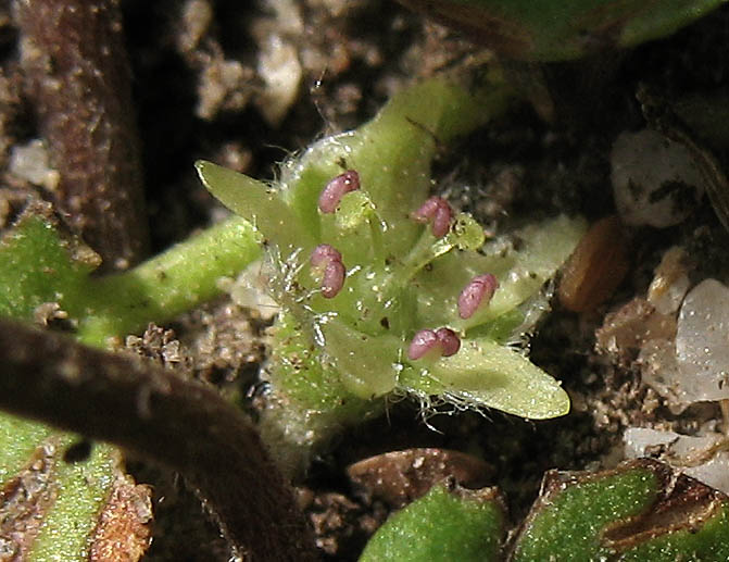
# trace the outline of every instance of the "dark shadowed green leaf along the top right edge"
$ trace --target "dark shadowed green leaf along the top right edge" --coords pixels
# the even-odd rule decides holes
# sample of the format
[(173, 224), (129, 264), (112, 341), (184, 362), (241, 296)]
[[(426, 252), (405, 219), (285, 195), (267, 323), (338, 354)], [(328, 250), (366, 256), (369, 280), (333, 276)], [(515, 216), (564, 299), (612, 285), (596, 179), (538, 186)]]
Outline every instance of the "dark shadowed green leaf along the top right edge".
[(561, 61), (669, 35), (725, 0), (400, 0), (502, 55)]

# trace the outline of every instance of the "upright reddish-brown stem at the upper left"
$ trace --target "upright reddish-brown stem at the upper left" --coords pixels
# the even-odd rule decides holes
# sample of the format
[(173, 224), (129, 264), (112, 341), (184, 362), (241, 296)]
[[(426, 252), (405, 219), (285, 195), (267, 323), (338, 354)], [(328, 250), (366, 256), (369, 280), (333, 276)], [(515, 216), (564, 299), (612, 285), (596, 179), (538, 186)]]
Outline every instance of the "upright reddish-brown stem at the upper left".
[(61, 179), (59, 210), (104, 267), (148, 242), (139, 139), (117, 0), (18, 0), (26, 90)]

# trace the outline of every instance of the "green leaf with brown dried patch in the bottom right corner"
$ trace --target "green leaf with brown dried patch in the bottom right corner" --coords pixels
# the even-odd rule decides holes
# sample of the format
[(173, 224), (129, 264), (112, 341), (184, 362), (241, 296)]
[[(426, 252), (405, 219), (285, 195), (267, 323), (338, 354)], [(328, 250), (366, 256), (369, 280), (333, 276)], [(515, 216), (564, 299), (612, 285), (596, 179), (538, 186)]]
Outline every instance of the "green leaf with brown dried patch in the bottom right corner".
[(544, 477), (512, 562), (729, 559), (729, 498), (641, 459)]

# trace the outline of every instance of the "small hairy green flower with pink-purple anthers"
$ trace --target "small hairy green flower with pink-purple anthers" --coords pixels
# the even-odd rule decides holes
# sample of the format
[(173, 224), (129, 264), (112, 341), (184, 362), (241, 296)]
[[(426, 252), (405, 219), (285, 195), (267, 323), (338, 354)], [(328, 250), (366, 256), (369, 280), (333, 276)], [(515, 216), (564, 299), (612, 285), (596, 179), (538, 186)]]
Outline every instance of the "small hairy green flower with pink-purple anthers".
[(485, 246), (470, 215), (428, 197), (436, 139), (504, 107), (503, 86), (473, 91), (415, 86), (286, 162), (272, 185), (198, 162), (204, 185), (265, 240), (281, 307), (268, 372), (274, 396), (301, 411), (284, 422), (294, 441), (320, 416), (326, 433), (326, 413), (351, 422), (389, 395), (530, 419), (569, 410), (560, 383), (510, 344), (533, 323), (583, 222), (561, 216)]

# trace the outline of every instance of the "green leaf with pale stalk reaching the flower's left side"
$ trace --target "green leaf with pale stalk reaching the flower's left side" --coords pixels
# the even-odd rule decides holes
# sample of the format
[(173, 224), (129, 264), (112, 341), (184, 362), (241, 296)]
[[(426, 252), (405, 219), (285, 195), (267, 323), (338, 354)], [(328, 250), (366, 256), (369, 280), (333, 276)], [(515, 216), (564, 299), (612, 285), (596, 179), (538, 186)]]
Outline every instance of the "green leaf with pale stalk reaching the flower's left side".
[(97, 254), (28, 212), (0, 242), (0, 315), (32, 320), (40, 304), (56, 303), (80, 341), (106, 347), (219, 295), (221, 277), (260, 255), (255, 229), (232, 217), (129, 271), (92, 277)]

